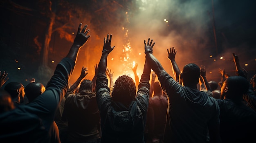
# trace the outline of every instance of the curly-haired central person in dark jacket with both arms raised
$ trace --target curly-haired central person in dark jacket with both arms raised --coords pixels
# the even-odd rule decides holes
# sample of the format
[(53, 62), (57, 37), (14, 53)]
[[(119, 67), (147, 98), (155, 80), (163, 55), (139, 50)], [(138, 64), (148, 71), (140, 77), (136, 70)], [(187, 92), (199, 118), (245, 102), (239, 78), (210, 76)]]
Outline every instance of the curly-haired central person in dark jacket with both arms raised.
[[(149, 99), (149, 79), (151, 69), (145, 62), (144, 71), (138, 85), (128, 75), (121, 75), (115, 81), (112, 94), (106, 76), (107, 57), (114, 49), (111, 47), (112, 35), (104, 38), (104, 46), (99, 62), (96, 80), (96, 97), (101, 117), (101, 143), (144, 143), (144, 128)], [(151, 40), (145, 44), (145, 51), (153, 51)]]

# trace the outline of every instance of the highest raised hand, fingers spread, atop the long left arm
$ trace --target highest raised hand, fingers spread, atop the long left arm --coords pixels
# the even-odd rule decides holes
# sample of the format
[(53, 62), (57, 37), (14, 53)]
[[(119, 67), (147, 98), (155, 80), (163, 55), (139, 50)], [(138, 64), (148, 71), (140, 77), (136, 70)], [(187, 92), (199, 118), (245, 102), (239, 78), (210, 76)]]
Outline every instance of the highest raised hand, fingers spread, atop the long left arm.
[(81, 48), (89, 39), (91, 35), (87, 35), (90, 32), (90, 29), (87, 29), (87, 25), (85, 25), (81, 31), (82, 23), (79, 24), (78, 31), (74, 40), (73, 45)]

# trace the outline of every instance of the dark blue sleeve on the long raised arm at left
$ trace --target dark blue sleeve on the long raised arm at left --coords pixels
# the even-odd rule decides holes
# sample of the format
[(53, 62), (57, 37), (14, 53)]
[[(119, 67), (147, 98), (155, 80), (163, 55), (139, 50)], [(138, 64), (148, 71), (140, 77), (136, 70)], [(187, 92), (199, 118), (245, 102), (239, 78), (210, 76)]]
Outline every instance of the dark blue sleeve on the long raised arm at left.
[(28, 112), (37, 114), (43, 120), (46, 130), (51, 127), (58, 104), (67, 91), (68, 80), (74, 66), (72, 59), (63, 58), (56, 66), (45, 92), (28, 105)]

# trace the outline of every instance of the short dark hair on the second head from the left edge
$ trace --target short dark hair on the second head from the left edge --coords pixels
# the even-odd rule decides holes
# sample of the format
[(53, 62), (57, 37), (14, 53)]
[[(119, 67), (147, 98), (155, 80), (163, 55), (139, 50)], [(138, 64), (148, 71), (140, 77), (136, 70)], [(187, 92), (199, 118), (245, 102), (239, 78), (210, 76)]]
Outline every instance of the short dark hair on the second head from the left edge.
[(19, 82), (13, 81), (13, 82), (9, 82), (8, 84), (6, 84), (4, 87), (4, 90), (7, 91), (11, 95), (12, 99), (14, 99), (19, 96), (17, 89), (20, 89), (21, 87), (24, 87), (24, 86), (22, 84), (20, 84)]

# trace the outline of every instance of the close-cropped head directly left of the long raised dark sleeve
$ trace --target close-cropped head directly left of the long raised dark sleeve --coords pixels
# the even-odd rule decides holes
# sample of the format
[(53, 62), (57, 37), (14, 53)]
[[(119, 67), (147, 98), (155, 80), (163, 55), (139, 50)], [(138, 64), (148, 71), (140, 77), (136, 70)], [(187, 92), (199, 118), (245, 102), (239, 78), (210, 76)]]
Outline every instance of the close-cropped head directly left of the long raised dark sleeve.
[(29, 102), (45, 92), (45, 86), (40, 82), (31, 82), (25, 87), (25, 95)]

